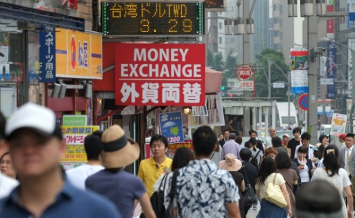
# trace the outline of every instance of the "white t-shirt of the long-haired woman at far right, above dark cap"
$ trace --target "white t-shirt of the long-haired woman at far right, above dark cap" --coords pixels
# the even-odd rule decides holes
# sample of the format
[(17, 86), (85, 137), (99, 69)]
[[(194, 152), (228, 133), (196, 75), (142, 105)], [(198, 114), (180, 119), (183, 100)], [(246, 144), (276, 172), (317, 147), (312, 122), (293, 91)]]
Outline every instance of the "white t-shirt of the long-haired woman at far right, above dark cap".
[(349, 176), (347, 176), (347, 171), (343, 168), (340, 168), (339, 174), (335, 174), (334, 176), (329, 177), (326, 171), (324, 170), (324, 168), (317, 168), (315, 169), (315, 171), (313, 171), (313, 176), (311, 181), (315, 181), (315, 180), (328, 181), (329, 183), (331, 183), (331, 185), (334, 185), (334, 187), (336, 187), (336, 189), (339, 192), (340, 198), (343, 201), (343, 215), (347, 217), (347, 206), (345, 205), (345, 201), (343, 198), (343, 191), (344, 191), (344, 187), (352, 185)]

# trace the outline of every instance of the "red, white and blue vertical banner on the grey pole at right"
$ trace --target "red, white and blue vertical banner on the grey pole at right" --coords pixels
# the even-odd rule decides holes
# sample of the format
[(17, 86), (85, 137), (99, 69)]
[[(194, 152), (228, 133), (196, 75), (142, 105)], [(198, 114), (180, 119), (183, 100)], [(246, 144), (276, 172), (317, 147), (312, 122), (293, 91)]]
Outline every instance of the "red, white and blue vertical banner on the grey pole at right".
[(308, 50), (291, 49), (291, 91), (308, 93)]

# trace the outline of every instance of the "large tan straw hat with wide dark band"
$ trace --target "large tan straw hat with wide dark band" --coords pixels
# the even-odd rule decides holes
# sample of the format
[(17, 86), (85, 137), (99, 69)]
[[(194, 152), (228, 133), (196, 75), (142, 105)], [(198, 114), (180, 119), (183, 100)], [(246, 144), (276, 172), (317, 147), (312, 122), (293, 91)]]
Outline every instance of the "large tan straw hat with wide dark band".
[(103, 142), (101, 164), (105, 168), (126, 167), (139, 158), (139, 145), (127, 139), (125, 131), (119, 125), (107, 128), (101, 140)]

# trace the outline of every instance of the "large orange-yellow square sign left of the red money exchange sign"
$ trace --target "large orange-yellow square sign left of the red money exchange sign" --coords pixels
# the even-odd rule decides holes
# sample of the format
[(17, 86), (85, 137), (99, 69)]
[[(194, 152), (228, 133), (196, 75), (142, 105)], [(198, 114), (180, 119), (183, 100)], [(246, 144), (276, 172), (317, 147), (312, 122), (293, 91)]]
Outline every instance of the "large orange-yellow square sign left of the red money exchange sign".
[(56, 76), (102, 79), (102, 36), (63, 28), (55, 31)]

